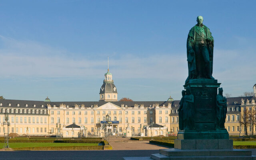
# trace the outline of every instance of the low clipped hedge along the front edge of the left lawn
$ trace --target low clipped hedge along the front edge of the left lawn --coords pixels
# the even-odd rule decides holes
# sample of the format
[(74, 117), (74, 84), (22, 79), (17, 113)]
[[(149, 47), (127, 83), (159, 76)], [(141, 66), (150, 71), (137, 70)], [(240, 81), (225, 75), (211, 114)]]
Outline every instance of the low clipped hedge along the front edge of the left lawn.
[(103, 150), (103, 146), (24, 147), (13, 150)]

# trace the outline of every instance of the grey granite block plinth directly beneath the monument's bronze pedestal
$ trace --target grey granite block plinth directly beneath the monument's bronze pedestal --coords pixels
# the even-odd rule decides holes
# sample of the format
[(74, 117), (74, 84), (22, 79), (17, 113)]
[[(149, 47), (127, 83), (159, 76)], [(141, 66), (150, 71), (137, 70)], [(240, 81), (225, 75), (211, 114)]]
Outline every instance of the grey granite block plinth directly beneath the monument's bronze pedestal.
[(196, 149), (232, 149), (233, 140), (209, 139), (209, 140), (174, 140), (174, 148), (180, 150)]

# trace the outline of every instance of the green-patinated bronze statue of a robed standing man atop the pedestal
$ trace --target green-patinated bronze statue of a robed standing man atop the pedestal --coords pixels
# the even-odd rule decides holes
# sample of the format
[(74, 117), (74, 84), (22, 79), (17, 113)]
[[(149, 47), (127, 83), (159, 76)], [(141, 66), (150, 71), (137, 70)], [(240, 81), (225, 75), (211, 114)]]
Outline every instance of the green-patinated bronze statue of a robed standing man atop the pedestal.
[(197, 24), (191, 28), (187, 39), (188, 78), (190, 79), (212, 77), (212, 59), (214, 39), (210, 29), (203, 25), (203, 17), (197, 17)]

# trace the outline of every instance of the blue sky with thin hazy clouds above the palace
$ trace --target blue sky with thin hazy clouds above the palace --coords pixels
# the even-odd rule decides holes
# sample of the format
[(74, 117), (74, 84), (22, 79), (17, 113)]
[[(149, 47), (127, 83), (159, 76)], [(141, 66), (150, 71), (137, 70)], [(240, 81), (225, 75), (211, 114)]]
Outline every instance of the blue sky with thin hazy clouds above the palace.
[(256, 1), (9, 0), (0, 2), (0, 95), (98, 101), (107, 71), (118, 99), (181, 98), (186, 38), (204, 17), (213, 76), (240, 96), (256, 83)]

